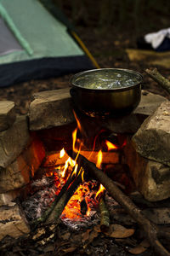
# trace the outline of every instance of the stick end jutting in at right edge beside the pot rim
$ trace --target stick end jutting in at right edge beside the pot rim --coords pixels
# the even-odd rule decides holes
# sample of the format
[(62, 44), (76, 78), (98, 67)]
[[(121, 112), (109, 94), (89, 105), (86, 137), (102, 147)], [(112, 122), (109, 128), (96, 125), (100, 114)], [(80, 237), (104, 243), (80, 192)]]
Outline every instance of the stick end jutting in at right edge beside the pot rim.
[(146, 69), (145, 72), (170, 94), (170, 81), (164, 78), (161, 73), (157, 71), (157, 68)]

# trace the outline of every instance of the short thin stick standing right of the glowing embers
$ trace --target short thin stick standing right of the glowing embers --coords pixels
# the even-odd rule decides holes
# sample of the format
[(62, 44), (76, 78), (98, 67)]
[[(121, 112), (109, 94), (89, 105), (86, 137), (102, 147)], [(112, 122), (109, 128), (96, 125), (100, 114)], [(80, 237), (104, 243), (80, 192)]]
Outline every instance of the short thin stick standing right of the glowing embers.
[(100, 217), (100, 230), (102, 232), (107, 232), (110, 228), (110, 215), (109, 211), (105, 205), (105, 200), (103, 196), (99, 199), (99, 211), (101, 214)]

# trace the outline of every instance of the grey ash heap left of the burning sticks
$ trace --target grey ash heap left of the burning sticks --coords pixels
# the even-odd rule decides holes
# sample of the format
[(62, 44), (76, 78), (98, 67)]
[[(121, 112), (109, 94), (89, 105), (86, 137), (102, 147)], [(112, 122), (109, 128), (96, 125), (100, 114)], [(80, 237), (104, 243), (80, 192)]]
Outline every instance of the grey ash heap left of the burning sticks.
[(22, 202), (22, 207), (26, 213), (26, 218), (32, 221), (40, 218), (51, 203), (54, 201), (56, 194), (56, 186), (53, 177), (42, 177), (31, 184), (31, 188), (35, 191), (39, 189), (34, 195), (31, 195), (26, 201)]

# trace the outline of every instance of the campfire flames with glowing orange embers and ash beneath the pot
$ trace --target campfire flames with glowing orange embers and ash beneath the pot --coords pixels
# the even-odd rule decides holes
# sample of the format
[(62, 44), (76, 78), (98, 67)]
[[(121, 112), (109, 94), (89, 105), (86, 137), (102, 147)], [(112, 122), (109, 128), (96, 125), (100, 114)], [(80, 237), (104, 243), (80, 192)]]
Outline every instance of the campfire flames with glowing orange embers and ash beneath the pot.
[[(52, 224), (58, 222), (60, 218), (65, 224), (77, 229), (80, 226), (86, 227), (87, 223), (96, 224), (96, 219), (99, 221), (99, 216), (95, 216), (95, 221), (92, 221), (92, 218), (99, 212), (101, 201), (105, 204), (103, 200), (105, 187), (83, 169), (79, 158), (81, 155), (99, 169), (108, 165), (111, 168), (111, 165), (118, 162), (118, 154), (120, 154), (118, 151), (126, 145), (126, 140), (120, 145), (111, 143), (108, 140), (111, 140), (111, 137), (106, 139), (103, 136), (106, 134), (108, 137), (108, 131), (100, 130), (94, 136), (92, 150), (85, 150), (86, 146), (81, 138), (82, 126), (77, 114), (75, 112), (74, 114), (77, 128), (72, 131), (72, 150), (66, 152), (65, 148), (61, 148), (59, 152), (47, 153), (39, 170), (44, 175), (41, 179), (32, 180), (33, 195), (22, 203), (31, 224)], [(102, 141), (101, 137), (103, 137)], [(98, 148), (100, 147), (99, 150), (96, 150), (96, 144)], [(44, 188), (45, 184), (47, 184), (46, 188)], [(117, 184), (123, 187), (121, 183), (117, 182)], [(106, 216), (107, 223), (103, 224), (101, 221), (101, 226), (105, 230), (110, 226), (109, 212), (106, 212)]]

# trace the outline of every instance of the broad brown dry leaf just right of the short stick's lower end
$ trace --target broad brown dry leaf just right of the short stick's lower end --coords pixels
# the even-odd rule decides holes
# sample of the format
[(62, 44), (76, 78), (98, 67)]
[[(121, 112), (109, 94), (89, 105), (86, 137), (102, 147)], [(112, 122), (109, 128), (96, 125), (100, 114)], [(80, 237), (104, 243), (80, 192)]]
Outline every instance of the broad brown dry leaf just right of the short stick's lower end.
[(110, 234), (108, 234), (108, 236), (113, 238), (126, 238), (129, 236), (133, 236), (135, 231), (133, 229), (126, 229), (120, 224), (112, 224), (111, 227), (113, 231)]

